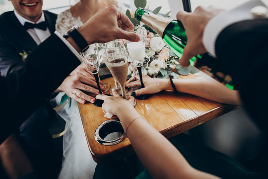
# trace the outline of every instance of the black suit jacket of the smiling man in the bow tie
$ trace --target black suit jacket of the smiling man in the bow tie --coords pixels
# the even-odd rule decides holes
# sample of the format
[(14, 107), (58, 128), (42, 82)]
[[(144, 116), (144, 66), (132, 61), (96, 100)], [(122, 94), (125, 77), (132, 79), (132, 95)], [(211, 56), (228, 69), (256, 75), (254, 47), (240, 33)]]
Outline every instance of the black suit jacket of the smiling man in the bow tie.
[[(53, 34), (57, 14), (45, 10), (43, 12), (50, 33)], [(37, 44), (23, 28), (14, 11), (1, 14), (0, 24), (0, 73), (2, 76), (6, 76), (24, 66), (22, 56), (19, 53), (24, 51), (30, 53), (37, 47)]]

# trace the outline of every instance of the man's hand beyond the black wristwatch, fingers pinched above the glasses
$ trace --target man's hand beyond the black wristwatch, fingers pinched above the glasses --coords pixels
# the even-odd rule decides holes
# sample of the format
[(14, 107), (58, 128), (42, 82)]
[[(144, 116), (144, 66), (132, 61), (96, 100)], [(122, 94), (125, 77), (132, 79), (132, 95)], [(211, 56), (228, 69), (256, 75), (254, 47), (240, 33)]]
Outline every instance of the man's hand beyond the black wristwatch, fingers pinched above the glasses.
[[(122, 22), (121, 28), (118, 26), (119, 20)], [(110, 5), (100, 9), (78, 30), (88, 44), (105, 43), (119, 38), (139, 41), (138, 35), (125, 31), (128, 28), (134, 29), (130, 19), (114, 5)]]

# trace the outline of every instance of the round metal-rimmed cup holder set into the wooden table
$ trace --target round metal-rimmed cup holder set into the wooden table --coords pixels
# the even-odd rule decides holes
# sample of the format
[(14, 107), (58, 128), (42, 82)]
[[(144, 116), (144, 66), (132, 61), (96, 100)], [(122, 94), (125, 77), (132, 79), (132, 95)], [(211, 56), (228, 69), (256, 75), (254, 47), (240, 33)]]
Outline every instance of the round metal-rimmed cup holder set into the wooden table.
[(126, 138), (126, 133), (119, 119), (109, 119), (97, 127), (94, 136), (102, 145), (115, 145)]

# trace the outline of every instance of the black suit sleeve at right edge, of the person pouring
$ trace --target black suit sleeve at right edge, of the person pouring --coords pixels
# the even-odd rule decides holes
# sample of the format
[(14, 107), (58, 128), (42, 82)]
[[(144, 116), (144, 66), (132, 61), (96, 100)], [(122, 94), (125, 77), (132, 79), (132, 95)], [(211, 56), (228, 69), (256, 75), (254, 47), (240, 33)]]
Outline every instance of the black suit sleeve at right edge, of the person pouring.
[(215, 44), (216, 55), (232, 75), (244, 106), (256, 122), (268, 128), (268, 19), (226, 27)]

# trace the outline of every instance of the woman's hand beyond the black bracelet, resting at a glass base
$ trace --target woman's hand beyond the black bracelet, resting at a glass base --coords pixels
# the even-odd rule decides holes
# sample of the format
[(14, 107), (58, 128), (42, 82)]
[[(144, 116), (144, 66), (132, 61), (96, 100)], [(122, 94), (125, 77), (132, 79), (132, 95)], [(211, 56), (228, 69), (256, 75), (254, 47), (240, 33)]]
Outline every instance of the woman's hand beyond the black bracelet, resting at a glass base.
[[(132, 77), (127, 83), (126, 87), (140, 86), (140, 80), (134, 81), (136, 78)], [(152, 79), (149, 76), (142, 75), (142, 81), (144, 88), (135, 90), (136, 95), (141, 94), (154, 94), (162, 90), (167, 89), (169, 80), (168, 79)]]

